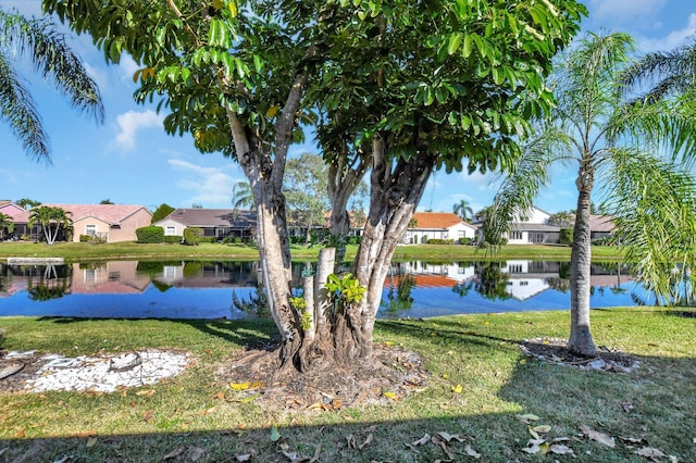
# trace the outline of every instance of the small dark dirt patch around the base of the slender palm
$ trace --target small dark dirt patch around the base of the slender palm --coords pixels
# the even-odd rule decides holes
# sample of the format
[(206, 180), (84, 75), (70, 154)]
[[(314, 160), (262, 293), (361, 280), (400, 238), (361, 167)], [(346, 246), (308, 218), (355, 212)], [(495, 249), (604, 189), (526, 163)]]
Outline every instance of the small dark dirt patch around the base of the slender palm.
[(559, 338), (525, 340), (520, 343), (520, 349), (526, 356), (581, 370), (631, 373), (641, 364), (634, 356), (606, 346), (597, 347), (597, 352), (593, 356), (577, 355), (568, 349), (566, 340)]

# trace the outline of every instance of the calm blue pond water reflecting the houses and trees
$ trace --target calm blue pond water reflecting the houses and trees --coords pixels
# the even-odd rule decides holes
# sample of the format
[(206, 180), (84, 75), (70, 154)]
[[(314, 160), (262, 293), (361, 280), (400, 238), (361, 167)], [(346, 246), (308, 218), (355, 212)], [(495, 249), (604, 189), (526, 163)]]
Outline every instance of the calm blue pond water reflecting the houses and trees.
[[(396, 263), (378, 317), (567, 310), (568, 277), (568, 262)], [(593, 308), (649, 302), (621, 264), (595, 265), (592, 284)], [(0, 316), (250, 318), (268, 316), (262, 295), (254, 262), (0, 264)]]

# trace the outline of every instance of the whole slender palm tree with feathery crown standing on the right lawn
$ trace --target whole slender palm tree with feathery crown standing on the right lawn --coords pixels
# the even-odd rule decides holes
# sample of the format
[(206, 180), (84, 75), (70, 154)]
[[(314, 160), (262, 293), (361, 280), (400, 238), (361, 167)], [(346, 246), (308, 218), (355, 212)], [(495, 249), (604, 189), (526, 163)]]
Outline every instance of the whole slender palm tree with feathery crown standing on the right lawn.
[[(683, 212), (681, 217), (675, 217), (673, 212), (674, 204), (684, 207), (692, 201), (689, 189), (693, 188), (693, 179), (689, 182), (685, 172), (657, 154), (638, 148), (652, 149), (659, 140), (663, 147), (685, 147), (687, 145), (683, 141), (688, 140), (685, 137), (693, 132), (679, 130), (688, 126), (680, 125), (683, 120), (679, 118), (681, 113), (674, 107), (666, 110), (626, 105), (619, 91), (619, 80), (631, 64), (629, 57), (632, 51), (633, 40), (625, 34), (589, 34), (579, 47), (562, 57), (550, 83), (556, 90), (557, 105), (540, 123), (539, 132), (527, 140), (515, 171), (504, 180), (495, 198), (493, 228), (501, 233), (505, 232), (505, 217), (514, 211), (530, 209), (539, 189), (550, 183), (550, 166), (559, 162), (577, 163), (568, 348), (583, 355), (595, 353), (589, 329), (589, 214), (595, 178), (601, 180), (606, 197), (611, 198), (610, 213), (621, 213), (622, 209), (624, 215), (625, 212), (634, 212), (635, 209), (627, 205), (633, 201), (634, 207), (654, 213), (655, 222), (679, 223), (689, 230), (692, 222), (696, 223), (694, 209), (691, 216)], [(650, 185), (646, 187), (646, 184)], [(645, 195), (646, 191), (650, 196)], [(664, 230), (666, 224), (655, 224), (650, 233)], [(638, 234), (634, 228), (632, 237), (645, 239), (645, 229)], [(649, 239), (663, 235), (658, 233)], [(672, 246), (672, 242), (664, 242), (663, 249)], [(656, 265), (658, 259), (661, 255), (647, 255), (639, 265), (663, 270), (661, 264)], [(664, 272), (658, 271), (649, 275), (656, 279), (667, 277)]]

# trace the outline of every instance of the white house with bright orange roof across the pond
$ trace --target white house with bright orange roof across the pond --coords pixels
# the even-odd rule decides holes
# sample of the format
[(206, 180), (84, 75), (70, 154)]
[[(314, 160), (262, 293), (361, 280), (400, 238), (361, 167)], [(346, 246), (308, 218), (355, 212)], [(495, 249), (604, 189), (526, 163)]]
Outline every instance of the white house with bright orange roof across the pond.
[(451, 239), (463, 243), (465, 238), (474, 239), (476, 227), (451, 212), (417, 212), (412, 225), (401, 238), (405, 245), (427, 242), (428, 239)]

